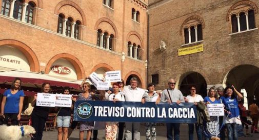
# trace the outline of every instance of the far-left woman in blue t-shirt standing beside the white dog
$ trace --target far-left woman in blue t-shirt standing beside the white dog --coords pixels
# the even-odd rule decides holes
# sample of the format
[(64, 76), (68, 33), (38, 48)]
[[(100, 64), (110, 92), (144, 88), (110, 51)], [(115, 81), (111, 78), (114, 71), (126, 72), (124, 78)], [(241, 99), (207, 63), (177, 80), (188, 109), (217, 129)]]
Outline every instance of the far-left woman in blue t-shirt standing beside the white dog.
[(4, 116), (5, 124), (11, 118), (12, 125), (18, 125), (21, 119), (21, 113), (24, 104), (24, 91), (21, 89), (21, 79), (15, 78), (12, 82), (11, 89), (4, 92), (1, 104), (1, 116)]

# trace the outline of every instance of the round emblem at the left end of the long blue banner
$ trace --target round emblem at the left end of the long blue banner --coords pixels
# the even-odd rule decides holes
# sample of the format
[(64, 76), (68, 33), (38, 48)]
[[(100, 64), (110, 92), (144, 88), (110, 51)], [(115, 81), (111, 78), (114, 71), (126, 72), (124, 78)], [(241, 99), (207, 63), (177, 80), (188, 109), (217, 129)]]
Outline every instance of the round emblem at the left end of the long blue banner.
[(76, 113), (80, 118), (88, 118), (92, 115), (93, 109), (89, 103), (81, 103), (76, 108)]

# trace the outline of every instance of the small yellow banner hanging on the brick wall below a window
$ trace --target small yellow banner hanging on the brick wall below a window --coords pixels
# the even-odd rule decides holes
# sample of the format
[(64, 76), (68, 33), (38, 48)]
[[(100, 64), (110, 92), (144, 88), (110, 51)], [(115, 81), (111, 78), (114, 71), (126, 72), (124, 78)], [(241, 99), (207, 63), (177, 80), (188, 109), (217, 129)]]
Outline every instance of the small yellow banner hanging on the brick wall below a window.
[(187, 47), (183, 49), (178, 49), (178, 56), (202, 52), (203, 51), (203, 44)]

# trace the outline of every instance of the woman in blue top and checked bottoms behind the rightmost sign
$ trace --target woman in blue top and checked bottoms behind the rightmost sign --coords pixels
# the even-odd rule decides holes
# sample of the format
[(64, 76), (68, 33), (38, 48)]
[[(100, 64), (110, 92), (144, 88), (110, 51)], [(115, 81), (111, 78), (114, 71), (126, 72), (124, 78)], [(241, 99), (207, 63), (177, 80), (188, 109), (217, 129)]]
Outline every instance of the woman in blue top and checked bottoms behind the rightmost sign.
[[(209, 89), (207, 97), (204, 98), (205, 104), (221, 104), (221, 100), (218, 98), (218, 94), (214, 87)], [(218, 116), (210, 116), (211, 122), (205, 122), (204, 125), (204, 135), (205, 139), (209, 140), (212, 136), (217, 136), (220, 134), (220, 125)]]

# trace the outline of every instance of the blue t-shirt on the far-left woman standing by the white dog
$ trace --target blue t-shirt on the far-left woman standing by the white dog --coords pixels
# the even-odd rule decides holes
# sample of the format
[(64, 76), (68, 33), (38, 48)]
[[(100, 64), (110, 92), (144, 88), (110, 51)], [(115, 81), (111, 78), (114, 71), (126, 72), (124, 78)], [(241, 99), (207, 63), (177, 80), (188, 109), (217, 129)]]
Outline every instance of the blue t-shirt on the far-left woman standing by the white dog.
[(19, 90), (12, 94), (11, 89), (8, 89), (4, 92), (4, 96), (6, 96), (4, 113), (19, 113), (20, 96), (24, 96), (24, 91)]

